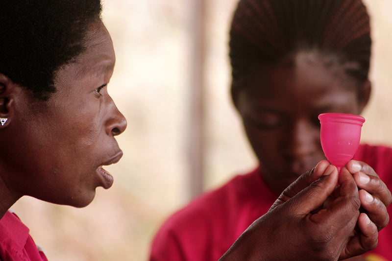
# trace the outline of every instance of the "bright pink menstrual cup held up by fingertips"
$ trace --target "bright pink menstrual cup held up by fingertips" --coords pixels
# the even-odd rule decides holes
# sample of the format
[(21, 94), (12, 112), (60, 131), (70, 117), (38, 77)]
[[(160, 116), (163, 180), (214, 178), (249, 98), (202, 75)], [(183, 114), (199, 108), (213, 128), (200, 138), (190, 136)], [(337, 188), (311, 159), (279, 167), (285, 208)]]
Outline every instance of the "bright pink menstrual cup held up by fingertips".
[(343, 113), (319, 115), (321, 147), (327, 160), (340, 170), (357, 152), (365, 118)]

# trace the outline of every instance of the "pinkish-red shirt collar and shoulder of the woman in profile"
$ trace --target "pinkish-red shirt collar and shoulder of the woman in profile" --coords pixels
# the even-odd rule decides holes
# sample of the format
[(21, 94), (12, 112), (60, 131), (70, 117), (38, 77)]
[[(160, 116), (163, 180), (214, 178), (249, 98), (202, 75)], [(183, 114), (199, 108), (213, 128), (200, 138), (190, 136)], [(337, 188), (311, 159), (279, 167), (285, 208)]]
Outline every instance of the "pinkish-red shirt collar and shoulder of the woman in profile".
[(38, 250), (29, 229), (9, 211), (0, 219), (0, 258), (2, 261), (48, 261)]

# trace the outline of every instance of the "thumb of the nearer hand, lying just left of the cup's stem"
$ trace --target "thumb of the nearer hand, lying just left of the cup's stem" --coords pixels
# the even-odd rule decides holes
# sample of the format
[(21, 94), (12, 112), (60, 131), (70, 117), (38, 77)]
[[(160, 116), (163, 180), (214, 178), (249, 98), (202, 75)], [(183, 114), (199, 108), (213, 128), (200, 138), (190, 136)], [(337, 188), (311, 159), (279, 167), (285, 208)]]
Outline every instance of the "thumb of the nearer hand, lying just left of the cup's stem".
[(306, 215), (318, 209), (329, 195), (335, 190), (338, 184), (338, 169), (336, 166), (328, 166), (323, 175), (310, 184), (307, 188), (298, 192), (291, 200), (291, 211), (294, 214)]

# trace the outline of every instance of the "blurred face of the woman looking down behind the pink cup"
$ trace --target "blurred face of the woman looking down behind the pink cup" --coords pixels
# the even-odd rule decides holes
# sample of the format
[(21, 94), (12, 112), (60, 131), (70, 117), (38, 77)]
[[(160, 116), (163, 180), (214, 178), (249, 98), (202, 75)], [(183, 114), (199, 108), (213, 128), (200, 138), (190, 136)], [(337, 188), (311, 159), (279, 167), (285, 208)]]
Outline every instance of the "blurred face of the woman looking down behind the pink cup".
[(357, 83), (339, 64), (298, 53), (273, 66), (260, 66), (239, 91), (237, 107), (262, 175), (277, 193), (324, 158), (318, 115), (360, 114)]

